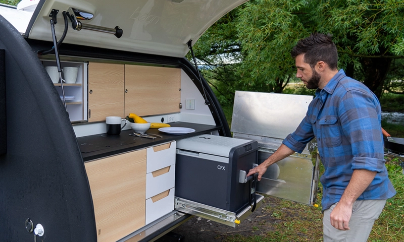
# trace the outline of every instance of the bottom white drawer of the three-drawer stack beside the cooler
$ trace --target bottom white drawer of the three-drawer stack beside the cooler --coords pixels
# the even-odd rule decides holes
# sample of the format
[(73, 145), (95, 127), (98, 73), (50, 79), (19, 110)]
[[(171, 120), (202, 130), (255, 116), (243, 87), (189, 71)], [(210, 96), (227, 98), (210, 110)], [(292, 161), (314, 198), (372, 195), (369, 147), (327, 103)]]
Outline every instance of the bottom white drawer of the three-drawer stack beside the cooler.
[(174, 188), (146, 200), (146, 224), (174, 210)]

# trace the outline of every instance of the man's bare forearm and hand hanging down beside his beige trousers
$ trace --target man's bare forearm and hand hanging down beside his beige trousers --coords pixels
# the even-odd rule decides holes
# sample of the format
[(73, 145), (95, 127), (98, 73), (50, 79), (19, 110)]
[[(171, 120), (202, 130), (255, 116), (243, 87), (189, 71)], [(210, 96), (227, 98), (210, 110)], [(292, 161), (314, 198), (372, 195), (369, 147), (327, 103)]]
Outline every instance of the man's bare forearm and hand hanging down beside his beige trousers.
[(365, 191), (376, 176), (376, 171), (354, 170), (352, 177), (342, 194), (341, 200), (332, 210), (331, 225), (339, 230), (349, 229), (349, 219), (352, 215), (352, 206), (357, 198)]

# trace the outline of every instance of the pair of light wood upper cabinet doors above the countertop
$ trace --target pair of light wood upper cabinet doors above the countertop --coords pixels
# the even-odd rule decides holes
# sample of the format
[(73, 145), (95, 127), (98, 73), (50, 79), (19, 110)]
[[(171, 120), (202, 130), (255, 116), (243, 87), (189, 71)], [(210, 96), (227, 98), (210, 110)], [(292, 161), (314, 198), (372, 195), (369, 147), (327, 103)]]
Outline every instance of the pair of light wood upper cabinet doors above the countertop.
[(179, 112), (180, 88), (178, 68), (89, 63), (88, 121)]

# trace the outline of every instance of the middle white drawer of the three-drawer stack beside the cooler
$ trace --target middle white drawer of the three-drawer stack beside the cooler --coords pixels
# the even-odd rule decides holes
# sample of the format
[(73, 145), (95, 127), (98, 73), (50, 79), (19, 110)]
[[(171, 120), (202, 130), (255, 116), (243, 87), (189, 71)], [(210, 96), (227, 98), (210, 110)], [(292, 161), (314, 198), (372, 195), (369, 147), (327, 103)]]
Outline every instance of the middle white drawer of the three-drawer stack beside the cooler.
[(175, 186), (175, 165), (146, 174), (146, 199)]

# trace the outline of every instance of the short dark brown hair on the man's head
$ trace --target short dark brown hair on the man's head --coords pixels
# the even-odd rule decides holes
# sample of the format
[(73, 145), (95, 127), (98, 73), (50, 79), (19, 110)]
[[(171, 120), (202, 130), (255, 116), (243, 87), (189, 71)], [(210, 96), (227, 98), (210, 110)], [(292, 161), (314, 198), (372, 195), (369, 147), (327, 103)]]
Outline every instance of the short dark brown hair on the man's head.
[(299, 54), (305, 54), (304, 61), (312, 68), (320, 61), (328, 65), (331, 70), (337, 69), (338, 52), (330, 34), (314, 33), (309, 37), (297, 41), (290, 54), (296, 58)]

